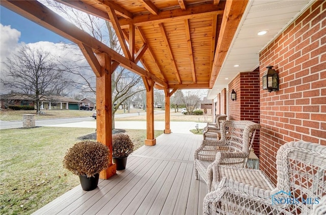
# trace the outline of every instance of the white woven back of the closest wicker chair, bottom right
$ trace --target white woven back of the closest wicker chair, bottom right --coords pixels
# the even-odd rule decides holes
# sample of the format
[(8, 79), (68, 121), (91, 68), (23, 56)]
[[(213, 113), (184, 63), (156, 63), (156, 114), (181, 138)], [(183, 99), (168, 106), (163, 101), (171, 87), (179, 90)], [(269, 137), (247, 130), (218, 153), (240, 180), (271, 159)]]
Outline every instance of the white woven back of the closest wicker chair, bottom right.
[(326, 196), (326, 146), (291, 142), (277, 154), (279, 190), (291, 193), (292, 214), (308, 214), (322, 196)]

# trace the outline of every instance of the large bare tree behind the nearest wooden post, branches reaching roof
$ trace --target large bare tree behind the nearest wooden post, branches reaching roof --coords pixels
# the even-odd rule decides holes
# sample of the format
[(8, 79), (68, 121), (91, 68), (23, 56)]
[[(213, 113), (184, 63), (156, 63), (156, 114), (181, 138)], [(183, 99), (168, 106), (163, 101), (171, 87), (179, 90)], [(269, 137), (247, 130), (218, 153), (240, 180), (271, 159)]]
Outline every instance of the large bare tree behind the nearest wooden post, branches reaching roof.
[[(58, 2), (47, 1), (48, 5), (56, 11), (62, 13), (68, 20), (76, 24), (80, 29), (88, 32), (94, 38), (108, 45), (118, 53), (123, 55), (118, 37), (110, 22), (99, 19), (98, 17), (67, 7)], [(76, 49), (76, 45), (70, 45)], [(75, 75), (74, 85), (84, 93), (96, 93), (95, 75), (89, 65), (83, 64), (84, 56), (80, 52), (80, 58), (74, 62), (65, 63), (65, 69)], [(119, 106), (126, 99), (134, 96), (145, 89), (142, 87), (141, 76), (129, 70), (118, 67), (112, 73), (112, 128), (115, 128), (115, 113)]]

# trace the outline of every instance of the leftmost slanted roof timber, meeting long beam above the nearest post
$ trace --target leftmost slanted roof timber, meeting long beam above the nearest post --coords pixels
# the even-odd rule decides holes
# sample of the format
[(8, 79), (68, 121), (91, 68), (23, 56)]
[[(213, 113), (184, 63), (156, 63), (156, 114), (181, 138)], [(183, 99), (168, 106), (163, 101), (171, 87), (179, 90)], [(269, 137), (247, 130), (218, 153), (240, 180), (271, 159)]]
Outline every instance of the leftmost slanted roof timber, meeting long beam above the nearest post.
[(114, 28), (116, 34), (117, 34), (117, 37), (118, 37), (118, 40), (120, 42), (121, 49), (123, 50), (124, 55), (129, 60), (132, 60), (132, 57), (130, 55), (130, 52), (129, 52), (129, 49), (128, 49), (128, 46), (127, 46), (127, 43), (126, 43), (126, 40), (124, 39), (122, 30), (120, 28), (120, 24), (119, 24), (118, 17), (117, 17), (117, 14), (116, 14), (115, 10), (113, 8), (111, 8), (111, 7), (107, 7), (106, 11), (107, 11), (108, 16), (111, 19), (111, 23), (113, 25), (113, 28)]

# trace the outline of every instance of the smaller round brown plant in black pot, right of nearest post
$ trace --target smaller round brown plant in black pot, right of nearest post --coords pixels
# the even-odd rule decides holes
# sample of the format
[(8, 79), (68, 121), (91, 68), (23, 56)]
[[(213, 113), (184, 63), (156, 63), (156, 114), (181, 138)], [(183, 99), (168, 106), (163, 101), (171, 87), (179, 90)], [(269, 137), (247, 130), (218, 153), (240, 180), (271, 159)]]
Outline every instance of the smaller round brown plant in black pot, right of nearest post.
[(128, 155), (133, 152), (133, 143), (128, 135), (117, 133), (112, 136), (112, 157), (117, 170), (124, 170), (127, 164)]

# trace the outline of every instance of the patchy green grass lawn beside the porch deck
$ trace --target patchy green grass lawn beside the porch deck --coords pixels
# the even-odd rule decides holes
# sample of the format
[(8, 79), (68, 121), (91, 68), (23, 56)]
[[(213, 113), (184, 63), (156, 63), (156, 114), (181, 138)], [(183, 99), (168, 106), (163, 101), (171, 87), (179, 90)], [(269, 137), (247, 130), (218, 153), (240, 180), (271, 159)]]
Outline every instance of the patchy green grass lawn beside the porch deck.
[[(91, 112), (90, 112), (91, 113)], [(93, 128), (37, 127), (0, 130), (0, 213), (31, 214), (79, 184), (63, 168), (68, 148)], [(135, 148), (144, 145), (146, 130), (126, 130)], [(155, 131), (155, 137), (163, 131)]]

